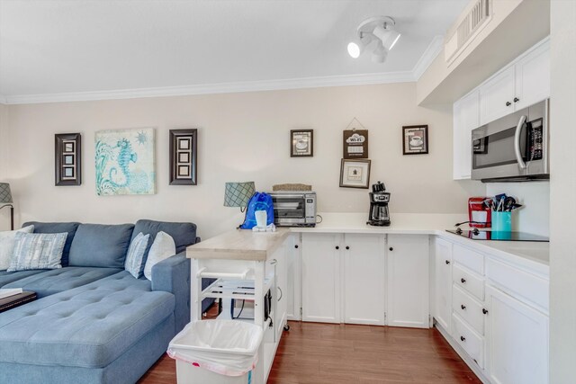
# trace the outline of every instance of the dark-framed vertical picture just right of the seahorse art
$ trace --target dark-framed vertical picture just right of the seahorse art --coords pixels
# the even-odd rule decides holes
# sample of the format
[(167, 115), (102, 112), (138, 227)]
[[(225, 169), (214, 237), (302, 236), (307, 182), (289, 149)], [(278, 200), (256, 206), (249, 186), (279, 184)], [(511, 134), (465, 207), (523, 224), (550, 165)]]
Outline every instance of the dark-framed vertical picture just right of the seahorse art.
[(198, 129), (170, 129), (170, 185), (196, 185)]

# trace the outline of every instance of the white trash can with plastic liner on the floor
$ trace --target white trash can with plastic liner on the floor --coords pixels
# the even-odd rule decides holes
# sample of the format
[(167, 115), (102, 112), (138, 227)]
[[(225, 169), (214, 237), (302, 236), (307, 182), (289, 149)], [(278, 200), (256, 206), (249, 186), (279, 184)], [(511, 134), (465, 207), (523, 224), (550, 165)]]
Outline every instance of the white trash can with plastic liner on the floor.
[(178, 384), (254, 384), (262, 327), (238, 320), (200, 320), (168, 346)]

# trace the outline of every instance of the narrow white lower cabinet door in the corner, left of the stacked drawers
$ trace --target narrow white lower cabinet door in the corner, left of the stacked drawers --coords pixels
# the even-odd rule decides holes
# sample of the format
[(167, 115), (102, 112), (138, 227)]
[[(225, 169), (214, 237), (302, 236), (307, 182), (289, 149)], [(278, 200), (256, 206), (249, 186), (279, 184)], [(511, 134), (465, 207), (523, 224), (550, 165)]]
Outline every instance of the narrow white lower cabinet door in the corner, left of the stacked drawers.
[(437, 323), (450, 332), (452, 317), (452, 243), (436, 237), (434, 255), (434, 311)]

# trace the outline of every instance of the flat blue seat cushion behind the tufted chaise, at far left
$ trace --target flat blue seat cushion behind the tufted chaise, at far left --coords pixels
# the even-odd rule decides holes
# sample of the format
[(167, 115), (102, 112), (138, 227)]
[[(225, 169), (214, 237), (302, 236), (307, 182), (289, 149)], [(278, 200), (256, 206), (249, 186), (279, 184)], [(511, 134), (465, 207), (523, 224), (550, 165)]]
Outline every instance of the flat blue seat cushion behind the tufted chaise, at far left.
[(119, 268), (66, 267), (24, 277), (6, 284), (4, 288), (31, 290), (36, 292), (39, 298), (43, 298), (63, 290), (80, 287), (120, 271)]

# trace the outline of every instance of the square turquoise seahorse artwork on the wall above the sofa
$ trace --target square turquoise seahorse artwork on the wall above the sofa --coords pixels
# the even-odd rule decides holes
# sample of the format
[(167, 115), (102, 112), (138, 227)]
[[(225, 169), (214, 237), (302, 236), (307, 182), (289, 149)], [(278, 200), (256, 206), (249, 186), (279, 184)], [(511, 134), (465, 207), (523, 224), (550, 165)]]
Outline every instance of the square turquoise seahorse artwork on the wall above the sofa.
[(96, 193), (154, 194), (154, 129), (99, 130), (95, 135)]

